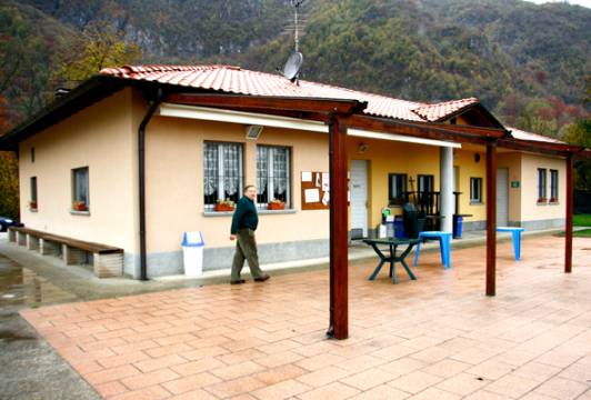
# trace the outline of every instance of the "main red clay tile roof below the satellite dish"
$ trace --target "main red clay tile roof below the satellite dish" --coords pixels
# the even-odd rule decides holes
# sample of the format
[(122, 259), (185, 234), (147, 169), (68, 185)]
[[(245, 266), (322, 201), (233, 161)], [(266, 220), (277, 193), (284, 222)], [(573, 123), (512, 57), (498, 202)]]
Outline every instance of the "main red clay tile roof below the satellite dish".
[(305, 80), (293, 83), (279, 74), (231, 66), (126, 66), (100, 73), (238, 94), (360, 100), (368, 102), (367, 114), (409, 121), (440, 121), (478, 103), (475, 98), (435, 104), (412, 102)]

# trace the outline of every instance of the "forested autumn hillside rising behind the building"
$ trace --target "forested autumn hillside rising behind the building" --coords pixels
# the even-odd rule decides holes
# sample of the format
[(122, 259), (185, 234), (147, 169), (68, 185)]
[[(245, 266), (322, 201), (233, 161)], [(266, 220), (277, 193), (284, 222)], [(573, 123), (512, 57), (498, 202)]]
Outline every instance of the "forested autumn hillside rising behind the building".
[[(137, 44), (138, 63), (228, 62), (274, 72), (293, 47), (289, 0), (0, 4), (0, 77), (7, 81), (0, 96), (18, 97), (11, 103), (20, 117), (39, 108), (39, 93), (68, 80), (56, 74), (57, 66), (78, 57), (80, 33), (96, 27)], [(477, 96), (523, 128), (532, 116), (560, 113), (533, 123), (547, 133), (583, 112), (590, 9), (519, 0), (308, 0), (302, 11), (305, 79), (422, 101)], [(14, 67), (29, 84), (7, 79)]]

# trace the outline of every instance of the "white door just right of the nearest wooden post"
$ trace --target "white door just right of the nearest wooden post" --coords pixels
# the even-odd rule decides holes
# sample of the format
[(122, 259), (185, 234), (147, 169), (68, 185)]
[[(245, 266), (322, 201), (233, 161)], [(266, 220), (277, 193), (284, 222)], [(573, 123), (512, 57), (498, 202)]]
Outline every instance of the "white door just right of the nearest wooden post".
[(351, 239), (368, 237), (368, 161), (351, 161)]

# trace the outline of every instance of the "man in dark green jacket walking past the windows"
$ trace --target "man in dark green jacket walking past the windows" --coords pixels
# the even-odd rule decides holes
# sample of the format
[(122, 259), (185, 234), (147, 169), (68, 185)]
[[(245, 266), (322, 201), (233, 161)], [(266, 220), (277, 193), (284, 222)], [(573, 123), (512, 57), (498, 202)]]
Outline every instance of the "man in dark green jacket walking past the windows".
[(248, 260), (250, 274), (257, 282), (264, 282), (269, 276), (259, 268), (259, 254), (257, 252), (257, 240), (254, 231), (259, 224), (259, 214), (254, 200), (257, 199), (257, 188), (248, 184), (244, 188), (244, 196), (238, 200), (234, 214), (232, 217), (232, 228), (230, 229), (230, 240), (237, 240), (234, 260), (232, 262), (232, 272), (230, 277), (231, 284), (240, 284), (246, 281), (240, 278), (240, 272), (244, 266), (244, 259)]

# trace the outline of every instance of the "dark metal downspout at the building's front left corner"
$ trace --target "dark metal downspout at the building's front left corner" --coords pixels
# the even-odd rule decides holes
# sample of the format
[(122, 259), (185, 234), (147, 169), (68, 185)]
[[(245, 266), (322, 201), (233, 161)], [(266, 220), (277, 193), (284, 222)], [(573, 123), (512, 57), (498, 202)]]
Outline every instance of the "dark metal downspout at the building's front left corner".
[(139, 183), (140, 183), (140, 280), (148, 280), (148, 260), (146, 249), (146, 127), (152, 119), (156, 110), (162, 101), (162, 89), (158, 89), (154, 100), (148, 107), (140, 128), (138, 129), (138, 159), (139, 159)]

